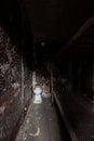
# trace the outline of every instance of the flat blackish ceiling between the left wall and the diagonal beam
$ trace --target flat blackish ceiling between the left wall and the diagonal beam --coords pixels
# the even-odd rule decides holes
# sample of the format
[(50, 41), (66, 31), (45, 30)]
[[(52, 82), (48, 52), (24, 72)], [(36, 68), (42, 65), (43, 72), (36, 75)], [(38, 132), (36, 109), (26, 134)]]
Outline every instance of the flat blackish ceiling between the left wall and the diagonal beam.
[(24, 0), (35, 38), (68, 40), (94, 12), (93, 0)]

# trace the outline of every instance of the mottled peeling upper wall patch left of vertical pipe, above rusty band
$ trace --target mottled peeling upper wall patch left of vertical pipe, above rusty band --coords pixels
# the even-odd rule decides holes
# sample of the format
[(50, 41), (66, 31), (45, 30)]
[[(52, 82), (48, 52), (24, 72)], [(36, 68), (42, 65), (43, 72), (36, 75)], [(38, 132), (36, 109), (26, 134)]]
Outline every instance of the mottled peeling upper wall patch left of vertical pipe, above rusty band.
[(9, 36), (0, 28), (0, 97), (21, 86), (21, 56)]

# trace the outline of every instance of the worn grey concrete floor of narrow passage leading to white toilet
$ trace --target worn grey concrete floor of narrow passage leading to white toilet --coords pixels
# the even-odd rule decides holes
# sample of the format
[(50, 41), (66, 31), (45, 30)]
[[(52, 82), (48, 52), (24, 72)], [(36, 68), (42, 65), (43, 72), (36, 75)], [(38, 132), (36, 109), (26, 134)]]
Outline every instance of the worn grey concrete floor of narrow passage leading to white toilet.
[(50, 99), (43, 99), (42, 104), (30, 104), (15, 141), (67, 141), (59, 120)]

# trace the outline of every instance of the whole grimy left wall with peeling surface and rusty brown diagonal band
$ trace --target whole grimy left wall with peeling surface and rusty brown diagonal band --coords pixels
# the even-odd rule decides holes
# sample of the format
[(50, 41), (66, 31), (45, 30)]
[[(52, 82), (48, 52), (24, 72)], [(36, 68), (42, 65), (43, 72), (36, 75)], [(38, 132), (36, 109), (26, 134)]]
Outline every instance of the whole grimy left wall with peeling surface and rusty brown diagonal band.
[[(22, 70), (25, 72), (24, 79)], [(27, 66), (22, 67), (17, 48), (9, 35), (0, 28), (0, 141), (11, 141), (21, 113), (30, 100), (30, 73)]]

